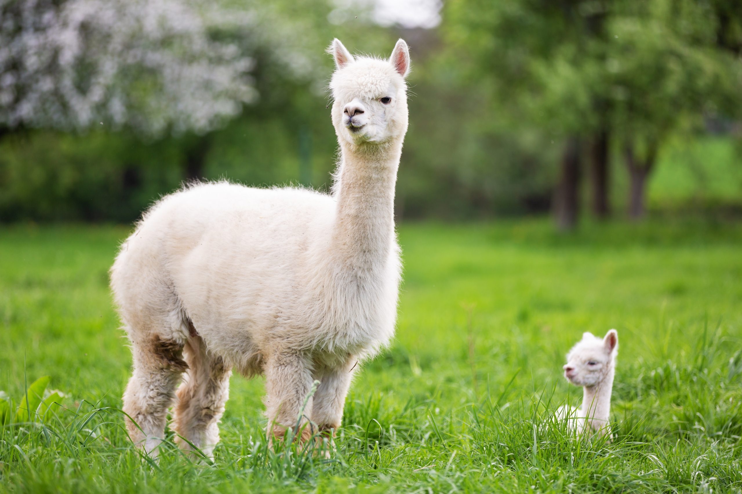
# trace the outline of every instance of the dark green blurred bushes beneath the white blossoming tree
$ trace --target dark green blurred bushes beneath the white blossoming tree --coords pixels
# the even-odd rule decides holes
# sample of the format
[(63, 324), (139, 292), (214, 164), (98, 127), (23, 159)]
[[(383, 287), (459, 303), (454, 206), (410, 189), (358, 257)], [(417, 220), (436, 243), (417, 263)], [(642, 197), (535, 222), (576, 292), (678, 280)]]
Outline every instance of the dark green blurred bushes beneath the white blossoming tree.
[(31, 133), (6, 139), (0, 157), (0, 220), (136, 218), (182, 180), (176, 141)]

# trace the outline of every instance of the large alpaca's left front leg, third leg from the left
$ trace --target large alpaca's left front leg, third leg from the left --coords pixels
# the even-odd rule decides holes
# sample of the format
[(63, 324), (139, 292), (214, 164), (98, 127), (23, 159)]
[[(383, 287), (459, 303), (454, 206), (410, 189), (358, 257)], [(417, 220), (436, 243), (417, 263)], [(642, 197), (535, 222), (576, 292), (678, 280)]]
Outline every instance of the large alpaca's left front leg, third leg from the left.
[(304, 401), (312, 389), (309, 360), (301, 353), (275, 353), (266, 361), (265, 372), (269, 441), (273, 438), (283, 440), (286, 429), (295, 428), (297, 421), (301, 429), (301, 441), (306, 441), (312, 435), (311, 427), (306, 424), (306, 417), (312, 413), (311, 398), (303, 410), (301, 419), (299, 414), (302, 413)]

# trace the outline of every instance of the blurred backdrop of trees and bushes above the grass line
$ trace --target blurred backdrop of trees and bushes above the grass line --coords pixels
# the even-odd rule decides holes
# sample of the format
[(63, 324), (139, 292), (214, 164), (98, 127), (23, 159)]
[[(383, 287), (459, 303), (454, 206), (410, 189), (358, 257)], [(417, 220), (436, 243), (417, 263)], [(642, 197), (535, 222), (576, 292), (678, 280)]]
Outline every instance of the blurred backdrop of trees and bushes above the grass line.
[(0, 0), (0, 221), (327, 190), (334, 37), (410, 44), (398, 219), (742, 216), (738, 0)]

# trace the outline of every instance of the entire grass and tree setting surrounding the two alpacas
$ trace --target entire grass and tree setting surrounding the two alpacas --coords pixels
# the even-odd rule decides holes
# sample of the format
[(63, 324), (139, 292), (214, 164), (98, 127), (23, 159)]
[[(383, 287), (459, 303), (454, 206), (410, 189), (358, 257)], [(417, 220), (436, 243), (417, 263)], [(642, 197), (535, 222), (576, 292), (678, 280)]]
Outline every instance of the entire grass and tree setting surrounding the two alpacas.
[[(185, 181), (329, 190), (335, 37), (413, 64), (397, 331), (340, 461), (260, 453), (237, 375), (216, 468), (140, 461), (116, 249)], [(0, 427), (0, 494), (739, 493), (741, 280), (742, 0), (0, 0), (0, 426), (65, 395)], [(565, 353), (610, 328), (617, 440), (565, 443)]]

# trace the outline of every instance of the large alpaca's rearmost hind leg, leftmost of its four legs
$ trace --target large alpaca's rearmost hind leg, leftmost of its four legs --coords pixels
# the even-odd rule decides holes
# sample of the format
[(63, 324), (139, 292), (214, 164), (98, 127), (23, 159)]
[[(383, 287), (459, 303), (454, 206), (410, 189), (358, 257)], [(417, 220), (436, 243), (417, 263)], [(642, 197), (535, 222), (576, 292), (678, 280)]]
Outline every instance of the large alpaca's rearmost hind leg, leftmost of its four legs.
[(123, 410), (131, 417), (125, 418), (126, 428), (137, 447), (157, 457), (168, 407), (188, 366), (182, 358), (183, 347), (177, 342), (152, 336), (144, 341), (133, 340), (131, 347), (134, 373), (124, 393)]

